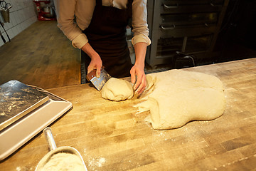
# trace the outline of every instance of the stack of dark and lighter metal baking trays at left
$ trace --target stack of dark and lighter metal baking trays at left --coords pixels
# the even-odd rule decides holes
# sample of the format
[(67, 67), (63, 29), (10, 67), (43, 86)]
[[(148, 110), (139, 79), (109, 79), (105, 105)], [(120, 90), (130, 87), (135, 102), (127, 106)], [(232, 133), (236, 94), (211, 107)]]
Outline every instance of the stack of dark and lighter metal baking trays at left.
[(68, 100), (19, 81), (1, 85), (0, 95), (0, 160), (72, 108)]

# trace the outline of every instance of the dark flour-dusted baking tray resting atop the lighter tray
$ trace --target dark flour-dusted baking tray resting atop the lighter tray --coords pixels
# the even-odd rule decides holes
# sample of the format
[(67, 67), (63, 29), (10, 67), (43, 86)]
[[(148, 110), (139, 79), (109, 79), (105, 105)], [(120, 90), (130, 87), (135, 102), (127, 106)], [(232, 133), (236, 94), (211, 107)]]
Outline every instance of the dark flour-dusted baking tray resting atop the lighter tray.
[(46, 103), (50, 98), (23, 84), (12, 80), (0, 86), (0, 130)]

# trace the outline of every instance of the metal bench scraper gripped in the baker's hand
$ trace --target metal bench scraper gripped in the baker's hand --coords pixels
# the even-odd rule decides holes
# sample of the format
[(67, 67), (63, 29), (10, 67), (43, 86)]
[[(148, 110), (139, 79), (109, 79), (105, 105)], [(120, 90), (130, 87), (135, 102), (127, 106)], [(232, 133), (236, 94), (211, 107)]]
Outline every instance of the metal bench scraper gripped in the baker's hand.
[(104, 66), (102, 66), (102, 68), (100, 69), (100, 78), (97, 78), (95, 69), (90, 71), (90, 73), (86, 75), (87, 81), (92, 82), (95, 88), (97, 88), (97, 90), (99, 91), (110, 78), (111, 76), (107, 73), (107, 71), (105, 71)]

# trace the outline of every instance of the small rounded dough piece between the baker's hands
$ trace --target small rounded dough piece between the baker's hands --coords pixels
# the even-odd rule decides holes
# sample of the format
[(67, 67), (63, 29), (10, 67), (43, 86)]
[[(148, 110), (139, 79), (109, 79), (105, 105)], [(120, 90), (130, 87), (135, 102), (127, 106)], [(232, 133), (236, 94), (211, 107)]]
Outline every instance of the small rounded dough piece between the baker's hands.
[(132, 84), (118, 78), (110, 78), (101, 90), (102, 98), (114, 101), (131, 99), (134, 95)]

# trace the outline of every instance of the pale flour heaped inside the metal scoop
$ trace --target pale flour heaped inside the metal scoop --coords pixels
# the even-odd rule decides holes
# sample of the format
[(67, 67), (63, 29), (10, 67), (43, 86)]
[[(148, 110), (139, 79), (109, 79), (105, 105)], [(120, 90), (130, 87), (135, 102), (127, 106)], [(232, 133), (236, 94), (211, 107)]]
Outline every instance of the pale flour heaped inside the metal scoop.
[(58, 152), (46, 162), (41, 171), (82, 171), (85, 170), (80, 157), (75, 154)]

